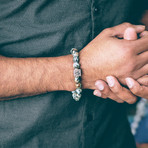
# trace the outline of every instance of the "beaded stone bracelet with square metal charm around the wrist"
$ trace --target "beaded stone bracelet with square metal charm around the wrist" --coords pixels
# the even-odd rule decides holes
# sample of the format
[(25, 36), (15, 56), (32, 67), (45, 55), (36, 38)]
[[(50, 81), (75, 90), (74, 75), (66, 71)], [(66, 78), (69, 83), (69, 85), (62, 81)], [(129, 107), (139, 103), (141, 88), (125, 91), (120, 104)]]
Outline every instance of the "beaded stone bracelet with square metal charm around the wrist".
[(76, 90), (72, 91), (72, 97), (75, 101), (81, 99), (82, 85), (81, 85), (81, 68), (79, 64), (79, 53), (76, 48), (71, 49), (71, 54), (73, 56), (73, 68), (74, 68), (74, 78), (76, 84)]

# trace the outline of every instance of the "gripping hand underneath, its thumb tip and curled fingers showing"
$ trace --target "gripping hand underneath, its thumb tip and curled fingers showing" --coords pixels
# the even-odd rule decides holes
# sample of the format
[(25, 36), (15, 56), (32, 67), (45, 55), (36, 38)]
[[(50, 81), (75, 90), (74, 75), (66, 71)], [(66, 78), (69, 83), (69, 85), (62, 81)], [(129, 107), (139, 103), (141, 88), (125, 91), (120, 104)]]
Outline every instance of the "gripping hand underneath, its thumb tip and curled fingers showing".
[[(140, 34), (140, 36), (144, 37), (147, 34), (147, 31), (144, 31)], [(124, 39), (136, 40), (137, 33), (135, 29), (126, 29), (124, 33)], [(139, 78), (138, 81), (141, 84), (148, 86), (148, 75)], [(140, 86), (140, 84), (132, 78), (126, 79), (126, 82), (128, 82), (128, 86), (131, 87), (130, 89), (135, 95), (148, 98), (148, 87)], [(108, 77), (108, 84), (110, 84), (111, 88), (109, 88), (105, 81), (98, 80), (96, 82), (96, 87), (98, 90), (95, 90), (94, 94), (101, 96), (102, 98), (111, 98), (119, 103), (123, 103), (124, 101), (128, 103), (134, 103), (136, 101), (136, 99), (133, 97), (133, 94), (128, 89), (122, 87), (115, 77)]]

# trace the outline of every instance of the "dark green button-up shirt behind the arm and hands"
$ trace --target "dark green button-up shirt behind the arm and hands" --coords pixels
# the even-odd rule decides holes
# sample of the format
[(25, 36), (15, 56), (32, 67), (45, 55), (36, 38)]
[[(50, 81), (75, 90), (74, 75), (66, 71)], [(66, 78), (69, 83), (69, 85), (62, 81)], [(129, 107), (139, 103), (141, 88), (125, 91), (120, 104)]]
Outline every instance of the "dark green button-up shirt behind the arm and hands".
[[(104, 28), (133, 22), (138, 0), (0, 0), (0, 54), (54, 57), (82, 49)], [(49, 84), (50, 85), (50, 84)], [(0, 102), (0, 148), (135, 148), (124, 105), (85, 90)]]

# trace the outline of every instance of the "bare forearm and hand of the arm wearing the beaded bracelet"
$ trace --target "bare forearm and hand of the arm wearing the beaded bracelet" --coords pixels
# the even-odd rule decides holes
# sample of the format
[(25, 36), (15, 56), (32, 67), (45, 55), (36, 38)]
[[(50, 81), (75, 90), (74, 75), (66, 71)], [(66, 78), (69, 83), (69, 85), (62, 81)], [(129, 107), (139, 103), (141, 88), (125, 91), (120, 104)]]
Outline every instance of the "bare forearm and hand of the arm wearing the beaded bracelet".
[[(132, 42), (117, 38), (123, 36), (128, 27), (139, 33), (145, 29), (129, 23), (108, 28), (81, 50), (83, 89), (95, 89), (94, 82), (105, 80), (107, 75), (114, 74), (125, 84), (128, 76), (138, 79), (148, 73), (148, 37)], [(0, 100), (76, 89), (72, 55), (50, 58), (1, 56), (0, 65)], [(133, 98), (136, 99), (134, 95)]]

